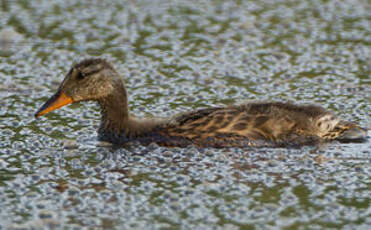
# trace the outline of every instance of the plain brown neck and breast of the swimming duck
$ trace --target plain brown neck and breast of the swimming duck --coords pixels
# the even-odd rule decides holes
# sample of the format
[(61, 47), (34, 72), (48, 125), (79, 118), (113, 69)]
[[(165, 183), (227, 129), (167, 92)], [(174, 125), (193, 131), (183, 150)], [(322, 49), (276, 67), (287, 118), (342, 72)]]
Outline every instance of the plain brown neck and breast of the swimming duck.
[(100, 136), (103, 136), (102, 139), (126, 141), (145, 136), (159, 124), (155, 119), (139, 119), (129, 115), (125, 89), (120, 90), (118, 94), (99, 100), (98, 103), (102, 114), (98, 132)]

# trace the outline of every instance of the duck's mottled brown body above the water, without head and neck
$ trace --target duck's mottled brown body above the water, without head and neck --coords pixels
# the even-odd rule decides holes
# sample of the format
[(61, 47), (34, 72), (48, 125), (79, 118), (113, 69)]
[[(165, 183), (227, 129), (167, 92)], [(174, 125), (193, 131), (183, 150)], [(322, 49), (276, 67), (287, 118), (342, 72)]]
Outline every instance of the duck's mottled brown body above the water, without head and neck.
[(283, 102), (251, 102), (147, 120), (144, 124), (140, 120), (132, 122), (136, 130), (142, 125), (142, 130), (133, 133), (128, 126), (112, 130), (102, 122), (99, 140), (119, 145), (155, 142), (169, 147), (299, 147), (333, 140), (346, 130), (358, 129), (356, 124), (341, 121), (322, 107)]

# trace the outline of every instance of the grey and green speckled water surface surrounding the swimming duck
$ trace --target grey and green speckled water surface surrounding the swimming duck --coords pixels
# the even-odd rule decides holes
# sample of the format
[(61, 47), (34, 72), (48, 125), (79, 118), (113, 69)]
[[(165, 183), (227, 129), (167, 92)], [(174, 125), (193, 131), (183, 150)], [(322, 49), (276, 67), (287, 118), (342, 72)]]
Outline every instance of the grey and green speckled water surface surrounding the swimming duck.
[(138, 116), (296, 100), (369, 128), (370, 12), (367, 0), (1, 1), (0, 229), (368, 229), (370, 140), (115, 150), (96, 141), (94, 103), (33, 114), (72, 63), (99, 56)]

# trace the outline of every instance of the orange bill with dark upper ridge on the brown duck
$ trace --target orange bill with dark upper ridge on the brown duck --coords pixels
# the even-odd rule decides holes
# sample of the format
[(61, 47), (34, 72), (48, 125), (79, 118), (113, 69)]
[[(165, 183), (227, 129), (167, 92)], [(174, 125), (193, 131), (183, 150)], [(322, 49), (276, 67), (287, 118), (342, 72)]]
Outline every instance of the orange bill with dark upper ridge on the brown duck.
[(63, 91), (59, 90), (41, 106), (41, 108), (36, 112), (35, 117), (38, 118), (71, 103), (73, 103), (72, 98), (67, 96)]

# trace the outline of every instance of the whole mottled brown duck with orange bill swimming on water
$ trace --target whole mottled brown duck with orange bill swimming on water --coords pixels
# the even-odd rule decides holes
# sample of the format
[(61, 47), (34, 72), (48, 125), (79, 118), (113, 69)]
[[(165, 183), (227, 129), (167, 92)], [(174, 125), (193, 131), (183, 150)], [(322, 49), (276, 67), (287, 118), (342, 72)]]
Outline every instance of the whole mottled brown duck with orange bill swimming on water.
[(169, 119), (137, 118), (129, 113), (125, 85), (119, 74), (102, 59), (87, 59), (74, 65), (57, 93), (35, 116), (89, 100), (97, 101), (101, 108), (99, 140), (119, 145), (138, 141), (178, 147), (288, 147), (327, 140), (360, 141), (367, 137), (365, 129), (340, 120), (322, 107), (283, 102), (206, 108)]

